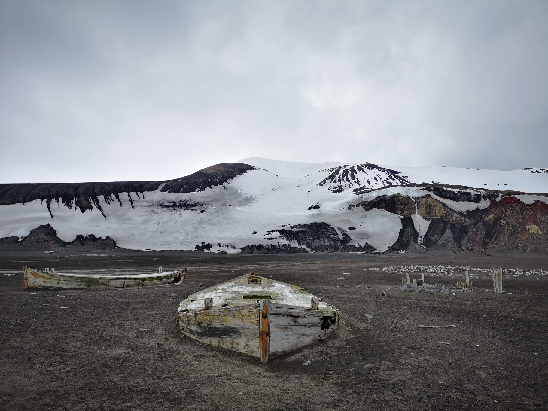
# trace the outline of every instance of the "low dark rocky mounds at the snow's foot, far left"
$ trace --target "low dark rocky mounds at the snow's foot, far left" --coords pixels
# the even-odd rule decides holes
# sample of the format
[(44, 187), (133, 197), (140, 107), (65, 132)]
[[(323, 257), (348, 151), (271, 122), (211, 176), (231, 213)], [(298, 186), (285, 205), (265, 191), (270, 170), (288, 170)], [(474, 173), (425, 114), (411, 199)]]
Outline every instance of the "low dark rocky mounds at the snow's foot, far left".
[(57, 236), (57, 231), (49, 224), (44, 224), (31, 230), (31, 232), (19, 241), (17, 236), (0, 238), (0, 250), (18, 251), (24, 248), (33, 250), (59, 250), (59, 249), (79, 249), (79, 250), (112, 250), (117, 248), (116, 242), (106, 236), (106, 238), (89, 236), (76, 236), (74, 241), (62, 241)]

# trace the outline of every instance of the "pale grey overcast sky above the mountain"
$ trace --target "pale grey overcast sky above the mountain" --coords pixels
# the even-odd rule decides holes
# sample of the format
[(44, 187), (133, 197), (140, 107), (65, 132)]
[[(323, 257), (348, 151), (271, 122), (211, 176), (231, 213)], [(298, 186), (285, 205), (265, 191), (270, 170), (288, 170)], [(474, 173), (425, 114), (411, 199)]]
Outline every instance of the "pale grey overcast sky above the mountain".
[(546, 1), (0, 0), (0, 182), (547, 154)]

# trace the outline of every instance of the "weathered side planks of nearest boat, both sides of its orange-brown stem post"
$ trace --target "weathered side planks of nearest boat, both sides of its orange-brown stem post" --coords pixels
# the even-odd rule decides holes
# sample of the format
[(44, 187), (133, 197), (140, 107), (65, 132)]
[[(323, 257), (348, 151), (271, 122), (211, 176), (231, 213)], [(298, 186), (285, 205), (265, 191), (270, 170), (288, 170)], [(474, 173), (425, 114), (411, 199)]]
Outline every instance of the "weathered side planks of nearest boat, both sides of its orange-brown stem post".
[[(183, 334), (203, 343), (250, 356), (259, 356), (260, 304), (179, 311)], [(339, 326), (335, 307), (313, 310), (270, 304), (270, 357), (282, 355), (327, 338)]]

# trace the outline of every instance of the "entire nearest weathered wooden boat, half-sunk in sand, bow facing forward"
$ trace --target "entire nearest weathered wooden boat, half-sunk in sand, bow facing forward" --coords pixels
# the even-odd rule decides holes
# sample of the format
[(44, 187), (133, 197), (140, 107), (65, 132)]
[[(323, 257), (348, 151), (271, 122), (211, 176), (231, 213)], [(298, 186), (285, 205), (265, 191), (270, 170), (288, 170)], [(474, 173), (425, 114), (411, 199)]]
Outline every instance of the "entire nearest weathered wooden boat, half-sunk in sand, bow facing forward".
[(327, 338), (339, 313), (300, 287), (252, 271), (189, 296), (179, 304), (177, 323), (191, 338), (266, 363)]

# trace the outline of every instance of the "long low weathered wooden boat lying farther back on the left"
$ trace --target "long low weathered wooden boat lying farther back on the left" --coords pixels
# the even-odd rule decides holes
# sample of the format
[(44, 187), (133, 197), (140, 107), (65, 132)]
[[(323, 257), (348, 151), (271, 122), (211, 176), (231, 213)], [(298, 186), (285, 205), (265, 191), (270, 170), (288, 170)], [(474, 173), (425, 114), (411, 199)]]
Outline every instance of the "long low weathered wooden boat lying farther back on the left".
[[(161, 270), (159, 270), (161, 271)], [(161, 284), (173, 284), (184, 281), (186, 269), (130, 274), (118, 273), (117, 275), (98, 275), (81, 273), (61, 273), (55, 269), (35, 270), (30, 267), (23, 267), (23, 288), (117, 288), (117, 287), (144, 287)]]

